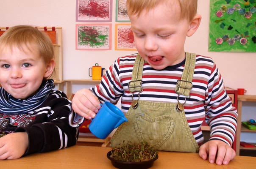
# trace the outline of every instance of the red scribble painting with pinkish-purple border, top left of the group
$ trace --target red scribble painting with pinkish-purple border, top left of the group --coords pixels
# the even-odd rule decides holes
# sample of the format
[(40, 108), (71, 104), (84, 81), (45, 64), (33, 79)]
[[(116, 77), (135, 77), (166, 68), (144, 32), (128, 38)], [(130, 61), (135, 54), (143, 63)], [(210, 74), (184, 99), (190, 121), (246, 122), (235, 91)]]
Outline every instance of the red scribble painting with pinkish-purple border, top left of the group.
[(111, 22), (112, 0), (77, 0), (76, 21)]

